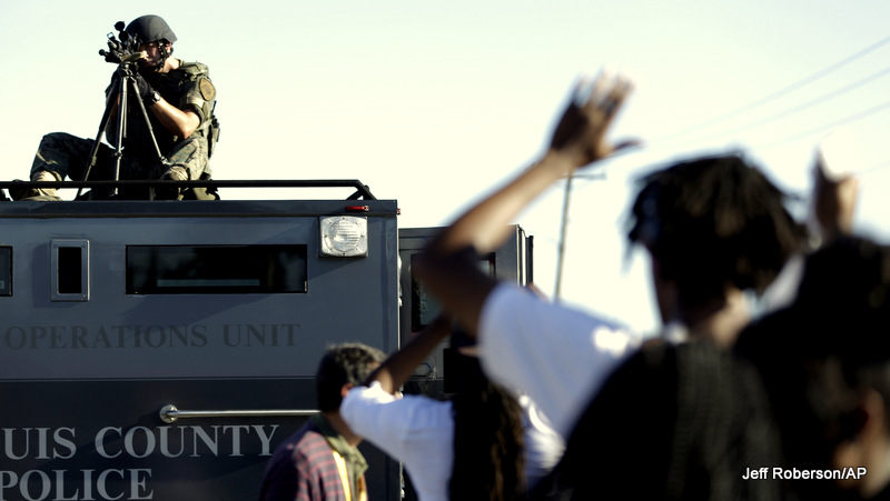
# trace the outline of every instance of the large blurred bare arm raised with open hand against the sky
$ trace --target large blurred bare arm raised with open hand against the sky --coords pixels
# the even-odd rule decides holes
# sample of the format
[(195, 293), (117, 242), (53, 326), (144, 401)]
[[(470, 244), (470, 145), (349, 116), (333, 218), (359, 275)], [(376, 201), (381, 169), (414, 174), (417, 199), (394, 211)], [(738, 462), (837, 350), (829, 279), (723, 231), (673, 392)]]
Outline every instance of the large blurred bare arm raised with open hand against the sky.
[(468, 334), (475, 335), (482, 305), (496, 283), (469, 254), (503, 243), (513, 219), (555, 181), (632, 144), (605, 139), (631, 90), (622, 74), (604, 72), (592, 84), (581, 81), (542, 158), (444, 229), (415, 263), (415, 274)]

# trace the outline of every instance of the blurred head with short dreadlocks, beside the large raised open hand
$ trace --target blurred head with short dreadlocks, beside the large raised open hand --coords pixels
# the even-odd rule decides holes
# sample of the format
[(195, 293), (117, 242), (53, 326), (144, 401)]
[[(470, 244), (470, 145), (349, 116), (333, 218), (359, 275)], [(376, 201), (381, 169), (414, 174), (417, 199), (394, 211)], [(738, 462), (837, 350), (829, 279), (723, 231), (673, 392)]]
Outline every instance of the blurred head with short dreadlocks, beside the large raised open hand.
[(762, 293), (803, 242), (785, 194), (741, 156), (682, 161), (640, 184), (627, 237), (651, 253), (664, 321), (719, 308), (730, 290)]

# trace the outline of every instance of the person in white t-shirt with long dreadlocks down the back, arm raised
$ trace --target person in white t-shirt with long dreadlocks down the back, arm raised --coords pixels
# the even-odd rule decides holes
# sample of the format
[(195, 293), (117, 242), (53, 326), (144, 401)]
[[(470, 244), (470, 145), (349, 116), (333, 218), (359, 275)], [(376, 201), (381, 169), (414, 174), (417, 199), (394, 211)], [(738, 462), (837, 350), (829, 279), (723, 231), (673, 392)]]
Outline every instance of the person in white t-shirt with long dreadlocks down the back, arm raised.
[[(398, 393), (414, 369), (452, 335), (448, 400)], [(482, 372), (442, 317), (349, 390), (340, 413), (349, 427), (402, 461), (422, 501), (520, 500), (558, 461), (563, 441), (534, 404)], [(458, 349), (458, 345), (462, 347)], [(471, 350), (472, 351), (472, 350)]]

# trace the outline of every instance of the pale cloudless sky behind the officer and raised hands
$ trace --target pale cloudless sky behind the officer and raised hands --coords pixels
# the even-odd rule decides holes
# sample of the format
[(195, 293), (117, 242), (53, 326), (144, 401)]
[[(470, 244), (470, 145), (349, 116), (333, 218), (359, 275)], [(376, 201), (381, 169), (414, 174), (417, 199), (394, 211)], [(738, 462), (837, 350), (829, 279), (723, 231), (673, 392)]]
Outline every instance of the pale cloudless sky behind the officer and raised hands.
[[(843, 124), (866, 167), (857, 228), (890, 237), (886, 0), (172, 6), (2, 0), (0, 178), (27, 178), (43, 133), (96, 137), (115, 69), (98, 54), (106, 34), (155, 13), (179, 39), (175, 57), (210, 68), (215, 178), (359, 179), (398, 200), (403, 228), (448, 223), (534, 159), (581, 72), (630, 70), (641, 83), (613, 137), (647, 146), (573, 184), (562, 298), (642, 332), (657, 321), (622, 222), (633, 180), (671, 159), (741, 149), (805, 200), (814, 148)], [(551, 293), (562, 196), (555, 186), (516, 221)]]

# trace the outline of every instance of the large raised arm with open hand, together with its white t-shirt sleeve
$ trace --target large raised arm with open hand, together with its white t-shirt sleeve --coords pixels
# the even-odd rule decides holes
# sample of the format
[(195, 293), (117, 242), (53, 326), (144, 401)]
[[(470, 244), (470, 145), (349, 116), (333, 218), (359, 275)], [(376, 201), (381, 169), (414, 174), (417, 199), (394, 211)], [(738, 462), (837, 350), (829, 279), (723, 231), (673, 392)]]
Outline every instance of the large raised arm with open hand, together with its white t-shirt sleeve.
[[(633, 144), (605, 138), (632, 89), (623, 73), (582, 79), (538, 161), (446, 228), (414, 264), (415, 274), (462, 328), (478, 337), (488, 374), (527, 393), (563, 435), (637, 339), (527, 290), (498, 285), (478, 270), (475, 257), (496, 249), (512, 219), (554, 182)], [(483, 307), (493, 311), (502, 305), (503, 314), (481, 324)]]

